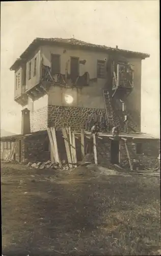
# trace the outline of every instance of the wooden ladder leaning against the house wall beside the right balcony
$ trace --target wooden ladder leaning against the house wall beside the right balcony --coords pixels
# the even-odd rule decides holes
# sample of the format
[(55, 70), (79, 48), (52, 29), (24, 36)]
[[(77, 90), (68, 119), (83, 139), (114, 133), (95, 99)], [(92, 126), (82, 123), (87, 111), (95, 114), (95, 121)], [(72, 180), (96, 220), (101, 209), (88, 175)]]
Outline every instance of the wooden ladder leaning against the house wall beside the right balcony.
[(113, 116), (113, 108), (111, 104), (111, 98), (108, 90), (103, 90), (103, 99), (104, 99), (104, 106), (105, 106), (105, 113), (106, 117), (108, 118), (108, 122), (110, 126), (115, 126), (114, 116)]

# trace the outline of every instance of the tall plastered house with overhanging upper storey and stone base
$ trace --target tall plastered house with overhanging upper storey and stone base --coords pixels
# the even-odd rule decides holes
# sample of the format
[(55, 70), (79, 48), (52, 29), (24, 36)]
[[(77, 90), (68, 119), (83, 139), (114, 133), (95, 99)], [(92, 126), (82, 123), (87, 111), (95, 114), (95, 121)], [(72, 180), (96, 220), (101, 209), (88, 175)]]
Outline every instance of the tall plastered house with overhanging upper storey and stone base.
[[(116, 124), (123, 132), (126, 111), (129, 133), (141, 132), (141, 63), (147, 57), (74, 38), (36, 38), (10, 68), (15, 72), (14, 100), (23, 106), (22, 134), (39, 136), (42, 154), (38, 146), (35, 154), (43, 155), (40, 144), (46, 145), (45, 131), (51, 126), (79, 132), (99, 117), (105, 132)], [(26, 147), (21, 146), (29, 153)], [(21, 151), (17, 149), (16, 159), (30, 158)]]

